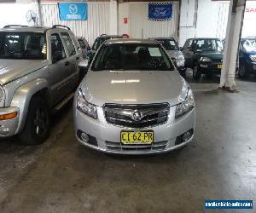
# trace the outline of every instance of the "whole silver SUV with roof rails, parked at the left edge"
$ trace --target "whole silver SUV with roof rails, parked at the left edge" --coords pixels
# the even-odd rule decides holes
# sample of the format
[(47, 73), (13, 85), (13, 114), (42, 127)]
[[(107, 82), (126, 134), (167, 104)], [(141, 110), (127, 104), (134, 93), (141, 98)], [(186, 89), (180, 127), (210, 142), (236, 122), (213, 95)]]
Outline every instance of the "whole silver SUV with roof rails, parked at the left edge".
[(66, 26), (0, 29), (0, 137), (39, 144), (49, 135), (50, 112), (79, 84), (79, 42)]

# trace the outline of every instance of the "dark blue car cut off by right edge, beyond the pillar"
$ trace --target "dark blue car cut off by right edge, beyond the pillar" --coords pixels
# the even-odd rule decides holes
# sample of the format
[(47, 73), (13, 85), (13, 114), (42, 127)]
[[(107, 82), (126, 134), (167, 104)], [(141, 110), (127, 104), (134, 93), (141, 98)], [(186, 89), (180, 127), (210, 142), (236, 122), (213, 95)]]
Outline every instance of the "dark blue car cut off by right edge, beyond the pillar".
[(238, 77), (246, 78), (250, 73), (256, 74), (256, 37), (240, 41)]

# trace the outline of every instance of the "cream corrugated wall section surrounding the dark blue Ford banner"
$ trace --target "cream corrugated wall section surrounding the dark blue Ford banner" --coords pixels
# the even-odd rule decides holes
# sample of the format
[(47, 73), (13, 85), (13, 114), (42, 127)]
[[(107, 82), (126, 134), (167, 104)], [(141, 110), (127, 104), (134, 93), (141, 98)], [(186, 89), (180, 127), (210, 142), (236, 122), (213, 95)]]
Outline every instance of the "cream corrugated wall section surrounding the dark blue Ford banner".
[[(172, 3), (171, 20), (148, 20), (148, 2), (119, 3), (119, 34), (134, 38), (177, 37), (178, 2)], [(128, 23), (124, 24), (124, 18)]]

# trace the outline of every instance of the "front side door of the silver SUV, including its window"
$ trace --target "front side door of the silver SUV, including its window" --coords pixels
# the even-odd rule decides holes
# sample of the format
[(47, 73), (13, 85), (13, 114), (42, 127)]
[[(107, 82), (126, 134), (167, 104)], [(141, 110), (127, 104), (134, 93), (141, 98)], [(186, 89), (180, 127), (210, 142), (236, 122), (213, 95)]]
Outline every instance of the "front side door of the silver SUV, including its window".
[(53, 105), (61, 101), (67, 95), (67, 76), (69, 61), (65, 52), (61, 37), (58, 33), (50, 35), (51, 61), (49, 65), (49, 84), (52, 92)]

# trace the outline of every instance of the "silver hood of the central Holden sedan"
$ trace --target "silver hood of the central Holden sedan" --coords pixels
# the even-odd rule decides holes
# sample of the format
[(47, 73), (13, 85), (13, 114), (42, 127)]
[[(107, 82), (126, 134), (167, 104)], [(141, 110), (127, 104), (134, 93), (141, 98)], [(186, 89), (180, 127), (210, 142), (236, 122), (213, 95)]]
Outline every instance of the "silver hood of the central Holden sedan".
[(90, 103), (150, 104), (180, 101), (186, 82), (177, 71), (89, 71), (80, 87)]

